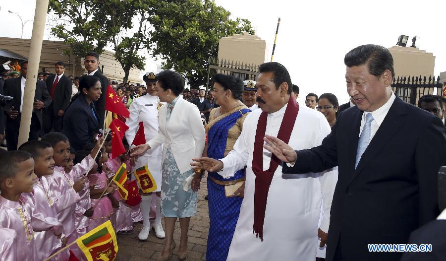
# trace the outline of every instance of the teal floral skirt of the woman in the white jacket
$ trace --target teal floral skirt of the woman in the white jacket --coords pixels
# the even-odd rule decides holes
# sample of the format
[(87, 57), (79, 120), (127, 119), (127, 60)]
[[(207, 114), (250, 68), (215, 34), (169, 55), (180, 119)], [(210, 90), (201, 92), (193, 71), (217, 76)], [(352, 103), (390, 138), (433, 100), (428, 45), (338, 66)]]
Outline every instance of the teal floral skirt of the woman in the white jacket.
[(192, 174), (190, 170), (181, 174), (176, 165), (170, 146), (163, 163), (161, 184), (161, 214), (165, 217), (191, 217), (197, 213), (197, 193), (184, 191), (184, 181)]

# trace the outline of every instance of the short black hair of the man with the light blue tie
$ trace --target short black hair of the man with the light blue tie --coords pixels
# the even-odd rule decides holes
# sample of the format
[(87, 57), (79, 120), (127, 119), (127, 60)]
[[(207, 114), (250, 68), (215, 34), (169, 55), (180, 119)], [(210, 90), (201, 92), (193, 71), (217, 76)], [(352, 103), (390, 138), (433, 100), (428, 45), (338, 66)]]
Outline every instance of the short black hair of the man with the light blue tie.
[(395, 77), (393, 57), (387, 48), (380, 45), (368, 44), (354, 48), (345, 55), (344, 64), (347, 67), (367, 65), (369, 73), (375, 76), (390, 70), (392, 79)]

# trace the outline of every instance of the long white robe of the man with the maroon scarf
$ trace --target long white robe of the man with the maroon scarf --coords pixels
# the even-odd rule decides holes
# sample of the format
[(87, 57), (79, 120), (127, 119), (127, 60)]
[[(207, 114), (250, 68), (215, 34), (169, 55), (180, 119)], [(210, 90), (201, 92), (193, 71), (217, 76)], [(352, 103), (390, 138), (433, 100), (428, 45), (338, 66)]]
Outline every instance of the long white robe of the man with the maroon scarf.
[[(266, 134), (277, 136), (286, 105), (268, 115)], [(298, 175), (282, 174), (279, 165), (268, 193), (263, 228), (264, 241), (253, 234), (255, 175), (252, 171), (254, 139), (261, 110), (250, 113), (243, 131), (223, 161), (223, 177), (246, 168), (245, 196), (232, 238), (227, 260), (315, 260), (318, 220), (324, 198), (324, 217), (320, 228), (327, 232), (330, 208), (337, 181), (337, 172)], [(286, 119), (285, 119), (286, 120)], [(308, 149), (322, 143), (330, 133), (325, 117), (317, 112), (299, 108), (289, 145), (294, 150)], [(266, 170), (271, 153), (264, 149), (263, 166)]]

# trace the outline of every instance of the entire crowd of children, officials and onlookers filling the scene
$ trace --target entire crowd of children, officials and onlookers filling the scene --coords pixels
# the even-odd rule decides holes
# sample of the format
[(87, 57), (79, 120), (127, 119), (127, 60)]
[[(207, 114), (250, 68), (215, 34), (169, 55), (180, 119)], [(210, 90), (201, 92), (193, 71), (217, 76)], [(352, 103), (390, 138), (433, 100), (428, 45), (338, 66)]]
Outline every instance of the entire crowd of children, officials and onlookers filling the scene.
[[(141, 241), (153, 228), (165, 239), (159, 260), (175, 249), (185, 260), (207, 173), (206, 260), (427, 260), (429, 253), (368, 245), (417, 242), (411, 233), (443, 210), (446, 100), (428, 94), (419, 108), (404, 103), (391, 90), (393, 60), (381, 46), (359, 46), (344, 63), (350, 101), (309, 93), (301, 106), (279, 63), (260, 65), (256, 81), (217, 73), (212, 90), (189, 90), (171, 70), (146, 73), (145, 85), (118, 84), (90, 52), (86, 75), (67, 77), (62, 62), (56, 74), (39, 73), (29, 141), (18, 148), (27, 62), (19, 77), (3, 73), (1, 94), (14, 100), (2, 122), (1, 259), (44, 260), (110, 220), (122, 234), (141, 222)], [(101, 137), (108, 85), (129, 111), (125, 152), (113, 157), (111, 136)], [(141, 128), (146, 142), (132, 145)], [(147, 166), (157, 185), (140, 188), (138, 204), (110, 185), (122, 163), (129, 181)], [(75, 244), (55, 259), (70, 256), (86, 260)]]

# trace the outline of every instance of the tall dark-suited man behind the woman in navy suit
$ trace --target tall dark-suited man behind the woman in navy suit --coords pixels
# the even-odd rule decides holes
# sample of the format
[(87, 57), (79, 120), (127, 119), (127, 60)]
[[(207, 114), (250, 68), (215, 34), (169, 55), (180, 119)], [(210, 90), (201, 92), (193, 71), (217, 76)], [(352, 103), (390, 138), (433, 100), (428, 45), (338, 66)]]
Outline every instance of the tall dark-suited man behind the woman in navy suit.
[(93, 75), (98, 77), (101, 80), (101, 86), (102, 86), (102, 95), (99, 97), (99, 100), (95, 102), (96, 112), (99, 116), (99, 126), (101, 126), (101, 129), (104, 126), (104, 120), (105, 120), (105, 100), (107, 96), (107, 86), (109, 85), (109, 79), (107, 79), (106, 76), (104, 76), (99, 71), (99, 55), (95, 52), (88, 52), (84, 57), (84, 65), (85, 69), (87, 69), (88, 75)]

